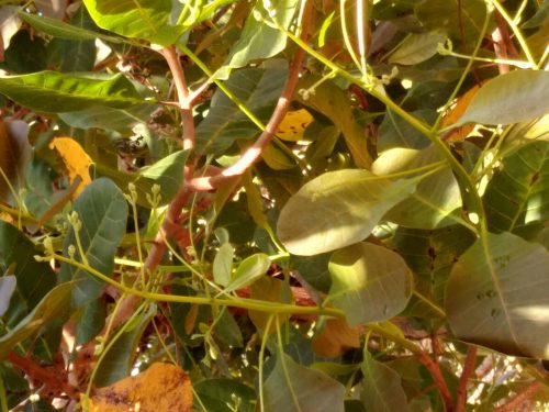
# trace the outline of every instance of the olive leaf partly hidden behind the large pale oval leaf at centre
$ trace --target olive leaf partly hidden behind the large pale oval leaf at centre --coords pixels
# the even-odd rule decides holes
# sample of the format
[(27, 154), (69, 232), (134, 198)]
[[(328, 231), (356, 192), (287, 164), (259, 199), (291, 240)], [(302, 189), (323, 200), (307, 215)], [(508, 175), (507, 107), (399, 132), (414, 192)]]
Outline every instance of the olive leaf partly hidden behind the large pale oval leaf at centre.
[[(376, 159), (372, 171), (377, 175), (413, 170), (440, 162), (435, 146), (423, 151), (392, 148)], [(459, 222), (461, 191), (449, 166), (422, 179), (416, 191), (392, 208), (384, 219), (414, 229), (444, 227)], [(456, 213), (452, 213), (456, 212)]]

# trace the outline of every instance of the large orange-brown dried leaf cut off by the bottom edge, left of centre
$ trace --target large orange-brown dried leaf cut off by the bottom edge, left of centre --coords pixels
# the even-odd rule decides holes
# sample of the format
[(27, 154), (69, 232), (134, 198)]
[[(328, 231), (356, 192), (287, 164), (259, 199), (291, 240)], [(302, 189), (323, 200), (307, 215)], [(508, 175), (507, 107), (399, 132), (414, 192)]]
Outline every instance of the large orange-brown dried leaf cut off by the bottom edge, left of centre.
[(153, 364), (147, 370), (100, 388), (89, 401), (90, 412), (187, 412), (192, 388), (187, 374), (171, 364)]

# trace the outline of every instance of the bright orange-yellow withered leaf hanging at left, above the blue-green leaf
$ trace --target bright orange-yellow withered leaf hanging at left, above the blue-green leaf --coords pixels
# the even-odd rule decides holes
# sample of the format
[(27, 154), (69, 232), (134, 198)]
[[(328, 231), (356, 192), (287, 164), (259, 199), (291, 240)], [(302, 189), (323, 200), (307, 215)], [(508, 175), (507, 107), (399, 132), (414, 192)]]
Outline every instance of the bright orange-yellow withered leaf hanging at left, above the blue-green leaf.
[(55, 137), (49, 143), (49, 148), (57, 152), (57, 155), (65, 165), (71, 183), (78, 176), (82, 179), (75, 191), (75, 198), (78, 197), (83, 188), (91, 182), (89, 168), (93, 162), (83, 151), (82, 146), (71, 137)]

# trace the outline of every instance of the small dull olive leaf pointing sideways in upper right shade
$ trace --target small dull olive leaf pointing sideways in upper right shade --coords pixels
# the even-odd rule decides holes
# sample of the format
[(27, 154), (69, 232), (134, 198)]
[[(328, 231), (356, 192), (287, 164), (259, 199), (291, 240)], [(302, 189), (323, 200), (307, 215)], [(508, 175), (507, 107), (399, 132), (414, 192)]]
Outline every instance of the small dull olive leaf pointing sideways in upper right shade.
[(440, 33), (412, 33), (389, 57), (389, 63), (406, 66), (422, 63), (437, 54), (438, 44), (445, 38)]

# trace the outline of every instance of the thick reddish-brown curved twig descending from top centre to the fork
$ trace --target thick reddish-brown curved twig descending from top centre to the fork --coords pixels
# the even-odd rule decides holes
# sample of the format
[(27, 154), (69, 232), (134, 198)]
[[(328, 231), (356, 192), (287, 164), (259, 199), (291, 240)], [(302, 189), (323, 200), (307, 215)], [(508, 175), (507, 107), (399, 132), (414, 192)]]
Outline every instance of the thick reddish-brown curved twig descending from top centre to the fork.
[[(312, 12), (312, 1), (307, 1), (305, 4), (305, 12), (303, 14), (302, 22), (302, 32), (301, 38), (306, 38), (309, 33), (309, 25), (311, 21), (311, 12)], [(229, 167), (223, 169), (219, 175), (215, 176), (206, 176), (206, 177), (195, 177), (189, 182), (189, 188), (195, 191), (208, 191), (217, 188), (220, 185), (225, 182), (227, 179), (231, 179), (235, 176), (240, 176), (244, 174), (257, 159), (261, 156), (261, 153), (270, 143), (274, 133), (284, 119), (288, 109), (290, 108), (290, 102), (292, 100), (293, 92), (295, 90), (295, 86), (298, 85), (299, 75), (301, 73), (301, 67), (303, 64), (303, 58), (305, 56), (305, 52), (299, 47), (293, 57), (292, 65), (290, 67), (290, 73), (288, 75), (288, 80), (282, 91), (277, 107), (272, 112), (272, 115), (267, 123), (265, 131), (260, 134), (257, 141), (246, 149), (246, 152), (242, 155), (242, 157)]]

